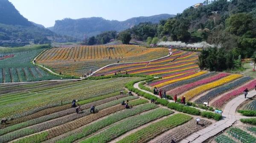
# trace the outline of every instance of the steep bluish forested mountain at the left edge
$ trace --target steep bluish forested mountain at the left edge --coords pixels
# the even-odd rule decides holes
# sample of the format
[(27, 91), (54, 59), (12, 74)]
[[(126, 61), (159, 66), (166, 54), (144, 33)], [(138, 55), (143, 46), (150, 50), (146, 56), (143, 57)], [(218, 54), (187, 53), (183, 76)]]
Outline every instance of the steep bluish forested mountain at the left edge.
[(49, 42), (46, 36), (54, 35), (42, 25), (24, 18), (8, 0), (0, 0), (0, 46), (23, 46), (29, 39), (44, 44)]

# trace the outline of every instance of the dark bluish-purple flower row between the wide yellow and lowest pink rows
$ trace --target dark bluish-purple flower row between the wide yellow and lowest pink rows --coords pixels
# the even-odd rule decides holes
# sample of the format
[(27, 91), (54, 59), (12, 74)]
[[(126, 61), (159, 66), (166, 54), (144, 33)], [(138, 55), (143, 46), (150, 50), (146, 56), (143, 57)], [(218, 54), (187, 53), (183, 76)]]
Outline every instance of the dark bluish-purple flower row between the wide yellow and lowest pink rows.
[(247, 77), (243, 77), (241, 79), (238, 79), (234, 82), (231, 82), (227, 85), (224, 85), (224, 86), (221, 86), (221, 87), (218, 87), (212, 91), (210, 91), (209, 93), (207, 93), (206, 95), (204, 96), (201, 96), (200, 98), (198, 98), (195, 103), (197, 104), (203, 104), (204, 102), (209, 102), (210, 99), (212, 98), (215, 98), (215, 96), (221, 94), (221, 93), (224, 93), (225, 91), (228, 91), (228, 90), (231, 90), (235, 87), (238, 87), (240, 86), (241, 84), (244, 84), (244, 82), (246, 81), (249, 81), (251, 80), (251, 77), (247, 76)]

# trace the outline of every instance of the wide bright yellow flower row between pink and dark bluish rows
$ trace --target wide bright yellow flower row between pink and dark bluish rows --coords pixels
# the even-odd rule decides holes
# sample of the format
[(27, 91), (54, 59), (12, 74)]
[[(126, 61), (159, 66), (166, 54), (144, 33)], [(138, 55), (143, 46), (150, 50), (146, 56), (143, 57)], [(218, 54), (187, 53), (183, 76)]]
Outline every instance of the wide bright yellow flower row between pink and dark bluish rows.
[(193, 90), (190, 90), (189, 92), (185, 93), (184, 96), (186, 96), (186, 100), (188, 101), (189, 99), (193, 98), (195, 95), (203, 93), (206, 90), (210, 90), (212, 88), (221, 86), (223, 84), (226, 84), (226, 83), (228, 83), (230, 81), (233, 81), (235, 79), (238, 79), (240, 77), (241, 77), (241, 75), (238, 75), (238, 74), (227, 76), (227, 77), (225, 77), (223, 79), (220, 79), (218, 81), (214, 81), (214, 82), (211, 82), (209, 84), (204, 84), (204, 85), (201, 85), (199, 87), (196, 87)]

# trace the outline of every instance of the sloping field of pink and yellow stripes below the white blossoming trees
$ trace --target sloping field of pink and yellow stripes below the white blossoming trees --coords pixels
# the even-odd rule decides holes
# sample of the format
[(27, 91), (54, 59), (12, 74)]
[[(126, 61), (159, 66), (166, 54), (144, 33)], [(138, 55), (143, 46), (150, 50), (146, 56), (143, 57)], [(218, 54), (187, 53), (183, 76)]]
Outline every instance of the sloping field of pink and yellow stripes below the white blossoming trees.
[[(158, 59), (153, 62), (131, 63), (131, 64), (114, 64), (97, 72), (94, 76), (112, 75), (122, 70), (122, 73), (127, 71), (129, 74), (146, 74), (167, 76), (177, 72), (197, 71), (198, 65), (197, 53), (185, 52), (181, 50), (173, 50), (172, 56)], [(181, 73), (180, 73), (181, 74)]]

